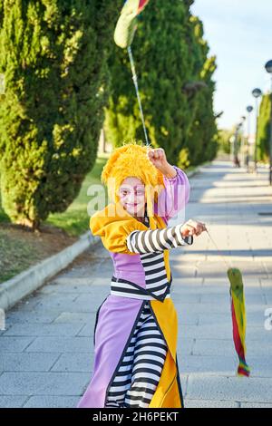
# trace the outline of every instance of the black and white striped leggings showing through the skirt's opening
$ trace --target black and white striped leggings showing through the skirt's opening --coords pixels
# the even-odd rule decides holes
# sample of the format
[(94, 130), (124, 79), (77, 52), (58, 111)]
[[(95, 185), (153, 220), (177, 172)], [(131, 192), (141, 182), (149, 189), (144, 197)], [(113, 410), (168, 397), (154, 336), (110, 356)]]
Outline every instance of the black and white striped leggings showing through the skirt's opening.
[(167, 344), (147, 302), (108, 392), (106, 408), (147, 408), (160, 381)]

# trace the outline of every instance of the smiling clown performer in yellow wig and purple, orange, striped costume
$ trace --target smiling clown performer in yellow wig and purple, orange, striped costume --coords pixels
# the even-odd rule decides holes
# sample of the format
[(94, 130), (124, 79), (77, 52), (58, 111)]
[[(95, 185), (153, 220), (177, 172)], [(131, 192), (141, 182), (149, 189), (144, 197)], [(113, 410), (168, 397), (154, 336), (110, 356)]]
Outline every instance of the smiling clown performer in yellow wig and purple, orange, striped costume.
[(191, 245), (205, 224), (168, 227), (189, 201), (189, 180), (161, 148), (123, 144), (102, 182), (113, 202), (92, 215), (90, 228), (114, 272), (96, 312), (92, 380), (77, 408), (183, 408), (169, 250)]

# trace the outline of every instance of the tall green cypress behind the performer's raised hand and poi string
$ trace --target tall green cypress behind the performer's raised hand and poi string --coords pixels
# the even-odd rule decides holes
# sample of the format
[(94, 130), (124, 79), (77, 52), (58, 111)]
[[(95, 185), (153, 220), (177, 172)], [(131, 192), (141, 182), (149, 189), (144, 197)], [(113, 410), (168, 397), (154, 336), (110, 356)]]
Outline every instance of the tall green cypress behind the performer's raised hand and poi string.
[[(214, 58), (202, 38), (192, 0), (151, 1), (141, 15), (132, 53), (149, 138), (171, 162), (189, 165), (214, 155), (217, 133), (212, 111)], [(126, 50), (110, 57), (112, 95), (105, 131), (115, 146), (143, 138), (141, 117)], [(203, 93), (200, 95), (200, 93)]]

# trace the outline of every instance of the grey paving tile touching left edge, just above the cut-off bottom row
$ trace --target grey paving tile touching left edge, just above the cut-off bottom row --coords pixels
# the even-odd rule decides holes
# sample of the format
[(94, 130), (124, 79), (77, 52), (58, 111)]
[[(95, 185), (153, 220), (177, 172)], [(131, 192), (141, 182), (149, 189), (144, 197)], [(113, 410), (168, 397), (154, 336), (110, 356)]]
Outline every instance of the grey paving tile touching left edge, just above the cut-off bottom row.
[(88, 373), (3, 373), (0, 389), (5, 395), (79, 395)]

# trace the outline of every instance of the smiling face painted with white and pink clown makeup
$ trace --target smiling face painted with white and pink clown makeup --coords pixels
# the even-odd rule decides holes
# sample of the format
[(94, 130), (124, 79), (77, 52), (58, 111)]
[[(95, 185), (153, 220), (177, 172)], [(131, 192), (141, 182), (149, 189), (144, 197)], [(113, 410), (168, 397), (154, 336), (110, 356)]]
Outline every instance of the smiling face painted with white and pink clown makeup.
[(129, 177), (121, 182), (120, 202), (131, 216), (144, 216), (145, 192), (141, 179)]

